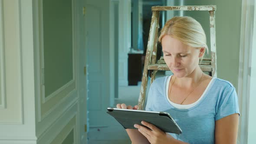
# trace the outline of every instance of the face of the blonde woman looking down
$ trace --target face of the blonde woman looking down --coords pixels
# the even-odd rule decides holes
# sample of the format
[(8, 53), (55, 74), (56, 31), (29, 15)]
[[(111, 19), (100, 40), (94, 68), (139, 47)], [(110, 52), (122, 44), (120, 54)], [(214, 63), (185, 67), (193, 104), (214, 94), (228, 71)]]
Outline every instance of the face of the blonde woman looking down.
[(178, 78), (190, 75), (199, 63), (200, 49), (187, 46), (178, 39), (165, 35), (162, 38), (164, 61)]

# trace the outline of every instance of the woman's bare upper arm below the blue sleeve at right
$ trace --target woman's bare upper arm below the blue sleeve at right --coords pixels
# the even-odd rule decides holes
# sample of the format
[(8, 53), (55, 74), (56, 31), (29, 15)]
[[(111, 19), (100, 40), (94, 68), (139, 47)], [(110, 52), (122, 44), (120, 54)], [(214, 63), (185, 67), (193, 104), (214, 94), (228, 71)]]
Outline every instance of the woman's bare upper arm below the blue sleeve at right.
[(238, 114), (233, 114), (215, 121), (215, 144), (236, 144)]

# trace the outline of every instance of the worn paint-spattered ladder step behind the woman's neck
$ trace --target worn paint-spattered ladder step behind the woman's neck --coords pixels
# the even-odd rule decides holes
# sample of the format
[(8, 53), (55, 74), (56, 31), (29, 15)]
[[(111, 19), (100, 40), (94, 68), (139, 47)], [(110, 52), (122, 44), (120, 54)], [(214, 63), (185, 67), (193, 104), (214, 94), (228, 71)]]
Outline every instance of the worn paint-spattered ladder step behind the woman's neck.
[[(199, 65), (203, 72), (212, 72), (212, 65)], [(148, 70), (161, 70), (169, 71), (170, 69), (166, 64), (150, 64)]]

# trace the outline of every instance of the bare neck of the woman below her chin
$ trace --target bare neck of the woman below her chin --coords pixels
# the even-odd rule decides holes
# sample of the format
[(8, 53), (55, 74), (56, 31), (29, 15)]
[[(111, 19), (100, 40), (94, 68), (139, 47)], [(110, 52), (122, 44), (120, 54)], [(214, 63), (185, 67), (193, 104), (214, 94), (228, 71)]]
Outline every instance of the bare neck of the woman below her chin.
[(203, 71), (200, 69), (199, 65), (193, 72), (182, 78), (175, 78), (175, 85), (183, 88), (193, 88), (200, 82), (203, 77)]

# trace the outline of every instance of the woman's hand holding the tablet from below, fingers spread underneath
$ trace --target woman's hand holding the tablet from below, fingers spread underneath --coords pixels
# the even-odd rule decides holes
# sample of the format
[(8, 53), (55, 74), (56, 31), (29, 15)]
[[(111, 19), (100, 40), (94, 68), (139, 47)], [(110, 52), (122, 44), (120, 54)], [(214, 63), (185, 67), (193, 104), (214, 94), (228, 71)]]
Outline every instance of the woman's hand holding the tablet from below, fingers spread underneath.
[(146, 121), (141, 121), (141, 124), (146, 127), (139, 124), (135, 124), (134, 127), (138, 128), (138, 131), (141, 132), (141, 134), (143, 134), (151, 144), (171, 144), (175, 141), (174, 137), (164, 131), (161, 131), (153, 124)]

